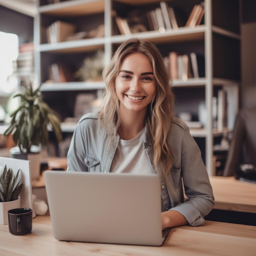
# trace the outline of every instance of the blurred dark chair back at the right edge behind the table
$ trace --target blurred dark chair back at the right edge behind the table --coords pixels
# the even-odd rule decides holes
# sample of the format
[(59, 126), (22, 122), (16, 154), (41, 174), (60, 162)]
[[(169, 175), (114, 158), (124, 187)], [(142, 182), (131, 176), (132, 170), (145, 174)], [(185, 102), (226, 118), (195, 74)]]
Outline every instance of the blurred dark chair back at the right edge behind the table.
[(238, 112), (223, 176), (236, 175), (240, 164), (256, 166), (256, 106)]

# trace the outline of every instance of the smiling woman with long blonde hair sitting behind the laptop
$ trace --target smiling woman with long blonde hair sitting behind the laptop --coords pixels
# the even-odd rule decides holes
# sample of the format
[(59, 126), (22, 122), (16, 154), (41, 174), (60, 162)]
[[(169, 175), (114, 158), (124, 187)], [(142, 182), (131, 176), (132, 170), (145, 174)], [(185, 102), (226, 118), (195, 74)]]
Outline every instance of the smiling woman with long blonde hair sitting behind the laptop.
[(103, 104), (77, 124), (67, 171), (159, 175), (162, 229), (204, 225), (214, 205), (211, 184), (188, 126), (173, 115), (170, 77), (156, 45), (125, 41), (103, 80)]

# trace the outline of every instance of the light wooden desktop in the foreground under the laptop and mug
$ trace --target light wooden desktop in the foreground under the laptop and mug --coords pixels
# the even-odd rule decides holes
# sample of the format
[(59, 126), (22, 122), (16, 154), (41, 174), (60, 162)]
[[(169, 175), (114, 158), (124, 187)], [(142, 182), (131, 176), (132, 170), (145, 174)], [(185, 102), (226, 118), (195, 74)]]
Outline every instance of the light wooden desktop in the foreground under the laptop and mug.
[(171, 229), (161, 247), (58, 241), (53, 237), (49, 216), (33, 220), (32, 233), (13, 236), (0, 225), (0, 255), (96, 255), (96, 256), (207, 256), (255, 255), (256, 227), (206, 221), (201, 227)]

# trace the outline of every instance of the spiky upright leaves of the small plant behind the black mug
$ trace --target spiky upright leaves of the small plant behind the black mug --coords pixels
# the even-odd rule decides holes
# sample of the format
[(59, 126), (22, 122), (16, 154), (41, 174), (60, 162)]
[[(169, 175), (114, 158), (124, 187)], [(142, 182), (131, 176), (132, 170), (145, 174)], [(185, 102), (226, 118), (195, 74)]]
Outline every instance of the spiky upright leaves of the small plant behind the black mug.
[(11, 168), (7, 171), (7, 166), (0, 177), (0, 202), (9, 202), (18, 199), (23, 183), (21, 182), (21, 169), (18, 170), (16, 175), (13, 174)]

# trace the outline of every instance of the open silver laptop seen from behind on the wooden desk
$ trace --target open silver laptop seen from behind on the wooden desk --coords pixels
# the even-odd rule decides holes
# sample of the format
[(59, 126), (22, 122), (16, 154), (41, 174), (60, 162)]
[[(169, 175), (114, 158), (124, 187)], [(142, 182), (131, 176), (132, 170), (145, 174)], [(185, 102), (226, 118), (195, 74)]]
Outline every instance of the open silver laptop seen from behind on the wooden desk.
[(45, 188), (57, 240), (164, 243), (157, 175), (46, 171)]

